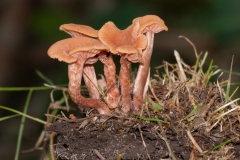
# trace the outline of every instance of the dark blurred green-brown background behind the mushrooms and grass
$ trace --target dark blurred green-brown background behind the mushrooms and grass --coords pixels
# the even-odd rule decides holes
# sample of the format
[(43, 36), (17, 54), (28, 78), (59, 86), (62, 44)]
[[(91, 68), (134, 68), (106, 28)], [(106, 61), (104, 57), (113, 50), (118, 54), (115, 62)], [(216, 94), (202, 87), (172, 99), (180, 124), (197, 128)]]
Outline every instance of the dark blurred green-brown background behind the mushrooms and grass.
[[(193, 49), (179, 35), (192, 40), (198, 52), (208, 51), (205, 67), (214, 59), (214, 64), (229, 70), (234, 55), (233, 70), (239, 72), (239, 7), (240, 1), (224, 0), (1, 0), (0, 87), (42, 86), (44, 82), (36, 69), (55, 84), (67, 84), (67, 64), (47, 56), (54, 42), (69, 37), (59, 31), (61, 24), (77, 23), (99, 29), (113, 21), (125, 29), (132, 19), (146, 14), (158, 15), (169, 28), (168, 32), (155, 35), (152, 73), (163, 60), (175, 63), (174, 49), (186, 63), (194, 65)], [(101, 67), (97, 68), (98, 73), (102, 72)], [(228, 75), (224, 75), (223, 79), (227, 79)], [(239, 82), (239, 77), (233, 76), (233, 81)], [(0, 92), (0, 105), (22, 111), (26, 96), (23, 91)], [(28, 114), (45, 119), (49, 102), (49, 91), (34, 92)], [(11, 114), (0, 110), (0, 117)], [(20, 118), (0, 122), (1, 159), (14, 157)], [(34, 147), (42, 128), (42, 124), (27, 120), (21, 149)], [(40, 154), (40, 151), (25, 153), (20, 159), (40, 159)]]

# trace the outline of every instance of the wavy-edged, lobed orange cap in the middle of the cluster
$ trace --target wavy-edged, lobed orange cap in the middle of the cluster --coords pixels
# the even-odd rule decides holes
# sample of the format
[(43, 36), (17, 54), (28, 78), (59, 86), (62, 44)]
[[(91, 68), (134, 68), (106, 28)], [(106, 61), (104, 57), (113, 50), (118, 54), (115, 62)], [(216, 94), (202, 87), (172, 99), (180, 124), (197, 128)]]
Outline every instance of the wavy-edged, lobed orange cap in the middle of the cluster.
[(120, 30), (113, 22), (107, 22), (99, 30), (98, 37), (113, 54), (141, 54), (147, 46), (147, 38), (138, 34), (139, 27), (140, 24), (136, 21), (125, 30)]

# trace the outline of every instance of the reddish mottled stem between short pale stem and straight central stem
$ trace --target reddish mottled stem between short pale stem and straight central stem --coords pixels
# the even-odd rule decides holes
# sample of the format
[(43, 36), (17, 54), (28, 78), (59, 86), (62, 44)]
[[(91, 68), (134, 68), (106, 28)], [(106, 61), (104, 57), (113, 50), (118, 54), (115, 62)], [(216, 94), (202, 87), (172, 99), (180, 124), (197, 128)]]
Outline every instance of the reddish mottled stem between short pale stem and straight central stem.
[(107, 81), (107, 97), (105, 98), (109, 108), (119, 107), (120, 93), (116, 83), (116, 66), (111, 53), (100, 53), (99, 60), (104, 64), (104, 75)]

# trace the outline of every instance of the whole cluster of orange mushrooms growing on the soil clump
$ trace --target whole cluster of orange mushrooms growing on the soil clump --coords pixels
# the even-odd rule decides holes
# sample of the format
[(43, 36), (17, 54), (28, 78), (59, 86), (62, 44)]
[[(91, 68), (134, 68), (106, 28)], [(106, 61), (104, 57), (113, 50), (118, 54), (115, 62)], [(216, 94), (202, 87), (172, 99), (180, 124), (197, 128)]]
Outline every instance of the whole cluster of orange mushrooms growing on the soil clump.
[[(61, 25), (60, 30), (72, 38), (54, 43), (48, 55), (68, 63), (68, 92), (71, 99), (78, 106), (97, 109), (100, 114), (110, 115), (113, 110), (122, 115), (127, 115), (131, 110), (139, 113), (148, 89), (154, 33), (168, 30), (164, 21), (156, 15), (146, 15), (135, 18), (125, 30), (118, 29), (113, 22), (105, 23), (100, 30), (77, 24)], [(113, 55), (121, 57), (118, 80)], [(104, 65), (104, 97), (97, 88), (98, 80), (93, 66), (98, 60)], [(131, 63), (139, 63), (133, 93), (130, 88)], [(89, 98), (81, 95), (82, 77)]]

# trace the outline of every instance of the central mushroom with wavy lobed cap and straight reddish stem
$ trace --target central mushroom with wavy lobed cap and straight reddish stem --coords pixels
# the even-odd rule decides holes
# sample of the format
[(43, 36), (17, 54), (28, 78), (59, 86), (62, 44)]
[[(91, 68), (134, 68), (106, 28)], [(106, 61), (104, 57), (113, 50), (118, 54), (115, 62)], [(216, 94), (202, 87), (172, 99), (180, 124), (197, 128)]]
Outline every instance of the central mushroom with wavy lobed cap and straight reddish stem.
[(136, 22), (125, 30), (120, 30), (113, 22), (109, 21), (98, 32), (99, 40), (109, 47), (111, 53), (121, 56), (119, 83), (123, 113), (128, 113), (131, 108), (129, 70), (131, 62), (142, 61), (141, 52), (147, 45), (146, 37), (138, 34), (139, 27), (140, 24)]

